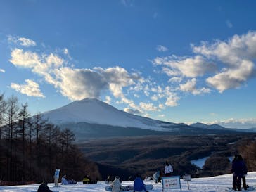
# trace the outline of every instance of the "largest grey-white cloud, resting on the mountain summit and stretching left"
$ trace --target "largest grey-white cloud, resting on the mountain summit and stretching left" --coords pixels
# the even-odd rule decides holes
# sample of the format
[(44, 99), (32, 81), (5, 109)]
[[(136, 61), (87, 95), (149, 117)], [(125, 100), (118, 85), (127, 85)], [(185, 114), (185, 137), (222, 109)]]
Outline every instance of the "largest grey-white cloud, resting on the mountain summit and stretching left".
[[(13, 65), (29, 68), (32, 72), (44, 77), (46, 82), (53, 84), (63, 96), (71, 100), (83, 98), (99, 98), (101, 91), (109, 89), (113, 96), (127, 101), (123, 88), (139, 81), (136, 73), (129, 73), (124, 68), (93, 68), (73, 69), (64, 67), (63, 58), (56, 54), (39, 55), (23, 49), (11, 51), (10, 62)], [(128, 102), (131, 105), (131, 102)]]

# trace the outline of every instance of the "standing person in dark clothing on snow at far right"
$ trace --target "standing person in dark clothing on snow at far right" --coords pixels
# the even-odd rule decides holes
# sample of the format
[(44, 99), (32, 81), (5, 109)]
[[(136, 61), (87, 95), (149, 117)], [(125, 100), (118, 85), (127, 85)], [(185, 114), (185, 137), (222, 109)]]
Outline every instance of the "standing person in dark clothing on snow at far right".
[(241, 191), (241, 179), (247, 172), (247, 168), (241, 155), (235, 155), (232, 161), (232, 172), (233, 172), (233, 189)]

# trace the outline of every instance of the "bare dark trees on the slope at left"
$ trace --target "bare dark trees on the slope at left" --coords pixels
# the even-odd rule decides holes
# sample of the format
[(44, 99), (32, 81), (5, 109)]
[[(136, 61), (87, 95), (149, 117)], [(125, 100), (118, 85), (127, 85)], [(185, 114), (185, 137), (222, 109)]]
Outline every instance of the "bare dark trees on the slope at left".
[(94, 162), (84, 158), (70, 129), (49, 123), (40, 113), (30, 115), (18, 98), (0, 95), (0, 180), (53, 181), (61, 174), (81, 181), (87, 172), (101, 179)]

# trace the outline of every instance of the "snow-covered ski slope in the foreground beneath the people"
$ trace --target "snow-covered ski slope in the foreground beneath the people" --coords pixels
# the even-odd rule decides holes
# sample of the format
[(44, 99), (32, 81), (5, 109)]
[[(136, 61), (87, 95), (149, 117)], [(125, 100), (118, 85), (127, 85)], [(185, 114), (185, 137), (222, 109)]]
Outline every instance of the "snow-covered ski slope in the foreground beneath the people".
[[(248, 186), (256, 187), (256, 172), (248, 173), (246, 177)], [(162, 184), (154, 184), (153, 181), (144, 181), (145, 184), (153, 184), (154, 188), (150, 192), (162, 192)], [(126, 186), (128, 184), (133, 184), (132, 181), (123, 181), (122, 185)], [(26, 185), (26, 186), (0, 186), (1, 192), (31, 192), (37, 191), (39, 184)], [(48, 184), (51, 190), (60, 192), (105, 192), (105, 182), (98, 182), (98, 184), (83, 185), (82, 182), (78, 182), (76, 185), (66, 185), (56, 188), (53, 184)], [(189, 181), (189, 188), (187, 182), (181, 179), (181, 190), (172, 189), (169, 192), (225, 192), (228, 187), (232, 186), (232, 174), (226, 174), (217, 177), (207, 177), (207, 178), (192, 178)], [(253, 190), (256, 192), (256, 189)]]

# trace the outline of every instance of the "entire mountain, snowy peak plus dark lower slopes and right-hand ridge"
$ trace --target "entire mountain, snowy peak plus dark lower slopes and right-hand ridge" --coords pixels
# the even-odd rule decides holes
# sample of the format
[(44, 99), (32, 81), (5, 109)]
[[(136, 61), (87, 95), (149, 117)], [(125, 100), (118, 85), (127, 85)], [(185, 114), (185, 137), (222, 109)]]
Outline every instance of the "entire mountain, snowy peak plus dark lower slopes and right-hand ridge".
[(188, 126), (184, 123), (153, 120), (118, 110), (95, 98), (74, 101), (42, 115), (60, 128), (71, 129), (77, 139), (164, 134), (219, 134), (239, 131), (225, 129), (217, 124), (196, 123)]

